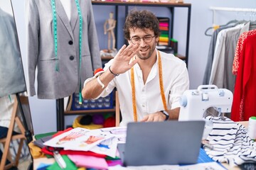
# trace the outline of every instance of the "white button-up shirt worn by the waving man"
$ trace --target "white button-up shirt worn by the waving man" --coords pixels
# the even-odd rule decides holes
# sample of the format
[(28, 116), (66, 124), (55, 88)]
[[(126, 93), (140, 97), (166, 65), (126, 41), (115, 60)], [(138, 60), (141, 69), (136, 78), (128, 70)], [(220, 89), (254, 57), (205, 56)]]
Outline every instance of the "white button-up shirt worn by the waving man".
[[(157, 54), (157, 52), (156, 52)], [(186, 63), (178, 59), (172, 54), (160, 52), (162, 74), (164, 82), (164, 95), (168, 109), (180, 107), (179, 100), (185, 90), (189, 88), (188, 70)], [(157, 60), (159, 56), (157, 56)], [(142, 70), (139, 64), (134, 65), (134, 81), (135, 94), (137, 104), (137, 120), (142, 120), (144, 115), (155, 113), (164, 110), (164, 105), (161, 99), (161, 91), (159, 85), (159, 69), (158, 61), (154, 64), (149, 73), (149, 77), (144, 84)], [(105, 70), (110, 67), (112, 60), (105, 64)], [(100, 96), (107, 96), (112, 92), (114, 87), (117, 88), (120, 110), (122, 113), (122, 122), (120, 126), (126, 126), (129, 122), (134, 122), (134, 111), (132, 106), (132, 85), (131, 85), (131, 70), (124, 74), (119, 74), (114, 77), (106, 89), (102, 91)], [(98, 97), (100, 97), (98, 96)]]

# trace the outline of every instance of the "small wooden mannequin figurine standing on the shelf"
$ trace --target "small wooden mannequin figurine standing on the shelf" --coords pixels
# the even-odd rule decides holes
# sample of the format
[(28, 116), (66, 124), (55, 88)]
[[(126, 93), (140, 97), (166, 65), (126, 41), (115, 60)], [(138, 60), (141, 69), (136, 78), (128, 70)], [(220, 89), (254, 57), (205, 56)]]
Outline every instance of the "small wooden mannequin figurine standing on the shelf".
[(110, 18), (108, 18), (104, 23), (104, 34), (107, 34), (107, 50), (102, 50), (102, 57), (114, 57), (117, 53), (117, 49), (115, 48), (116, 39), (114, 35), (114, 28), (116, 27), (117, 21), (114, 20), (113, 16), (114, 13), (110, 12)]

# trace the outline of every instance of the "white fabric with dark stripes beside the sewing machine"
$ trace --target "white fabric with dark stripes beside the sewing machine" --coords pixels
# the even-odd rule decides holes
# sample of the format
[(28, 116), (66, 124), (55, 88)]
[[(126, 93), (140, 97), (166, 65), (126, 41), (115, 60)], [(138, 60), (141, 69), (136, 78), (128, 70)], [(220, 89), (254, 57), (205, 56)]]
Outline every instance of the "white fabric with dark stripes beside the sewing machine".
[(206, 119), (213, 120), (213, 130), (206, 138), (213, 149), (205, 149), (210, 158), (230, 166), (256, 162), (256, 142), (250, 139), (245, 126), (229, 118), (208, 116)]

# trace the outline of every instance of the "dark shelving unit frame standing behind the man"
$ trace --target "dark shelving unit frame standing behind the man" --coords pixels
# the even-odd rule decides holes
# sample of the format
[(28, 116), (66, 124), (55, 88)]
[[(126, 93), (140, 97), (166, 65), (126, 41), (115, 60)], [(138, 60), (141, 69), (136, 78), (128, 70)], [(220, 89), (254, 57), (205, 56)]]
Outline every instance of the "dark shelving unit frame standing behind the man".
[[(119, 6), (124, 6), (124, 16), (127, 16), (129, 12), (129, 7), (136, 7), (136, 6), (152, 6), (152, 7), (163, 7), (168, 8), (171, 16), (170, 16), (170, 34), (169, 38), (173, 38), (174, 35), (174, 9), (175, 8), (187, 8), (188, 10), (188, 18), (187, 18), (187, 30), (186, 30), (186, 54), (181, 55), (177, 54), (176, 57), (180, 58), (181, 60), (184, 60), (188, 67), (188, 49), (189, 49), (189, 36), (190, 36), (190, 25), (191, 25), (191, 4), (176, 4), (176, 3), (150, 3), (150, 2), (122, 2), (122, 1), (92, 1), (92, 5), (95, 6), (114, 6), (115, 13), (119, 13)], [(120, 11), (122, 12), (122, 11)], [(118, 20), (118, 16), (116, 15), (116, 20)], [(115, 28), (116, 30), (119, 29), (118, 25)], [(117, 33), (117, 31), (116, 31)], [(116, 40), (118, 39), (118, 34), (116, 34)], [(122, 38), (124, 39), (124, 38)], [(124, 40), (125, 43), (125, 40)], [(184, 42), (179, 42), (184, 43)], [(160, 50), (160, 49), (159, 49)], [(161, 49), (162, 50), (162, 49)], [(168, 49), (166, 49), (168, 50)], [(102, 57), (102, 62), (107, 62), (108, 60), (111, 60), (112, 57)], [(92, 110), (84, 110), (84, 111), (63, 111), (63, 115), (59, 114), (58, 118), (60, 118), (60, 122), (58, 125), (58, 130), (64, 129), (64, 116), (65, 115), (80, 115), (80, 114), (87, 114), (87, 113), (114, 113), (115, 112), (115, 106), (114, 108), (110, 109), (92, 109)]]

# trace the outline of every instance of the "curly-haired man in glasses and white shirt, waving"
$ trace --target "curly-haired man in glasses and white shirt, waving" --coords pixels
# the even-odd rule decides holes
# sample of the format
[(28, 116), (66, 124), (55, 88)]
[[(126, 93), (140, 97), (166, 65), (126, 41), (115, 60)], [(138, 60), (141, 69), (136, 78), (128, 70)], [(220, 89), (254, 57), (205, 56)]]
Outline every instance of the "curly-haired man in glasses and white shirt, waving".
[[(179, 100), (188, 89), (188, 71), (182, 60), (156, 50), (159, 21), (149, 11), (131, 11), (124, 23), (123, 45), (97, 78), (87, 79), (83, 98), (98, 98), (117, 88), (122, 122), (178, 119)], [(100, 76), (98, 76), (100, 75)]]

